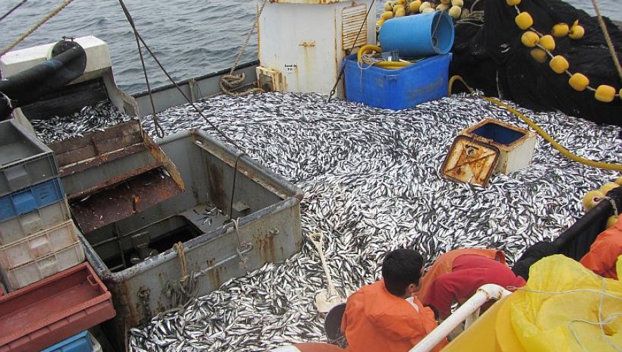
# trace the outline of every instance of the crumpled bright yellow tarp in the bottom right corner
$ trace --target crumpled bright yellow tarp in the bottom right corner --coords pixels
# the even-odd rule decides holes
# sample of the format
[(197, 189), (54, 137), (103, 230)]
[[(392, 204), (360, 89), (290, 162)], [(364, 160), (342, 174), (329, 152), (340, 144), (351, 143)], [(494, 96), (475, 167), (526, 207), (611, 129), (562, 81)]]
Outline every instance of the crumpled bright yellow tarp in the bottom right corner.
[[(622, 277), (622, 255), (616, 268)], [(622, 282), (552, 255), (531, 266), (524, 289), (522, 299), (511, 302), (509, 318), (525, 351), (622, 349)]]

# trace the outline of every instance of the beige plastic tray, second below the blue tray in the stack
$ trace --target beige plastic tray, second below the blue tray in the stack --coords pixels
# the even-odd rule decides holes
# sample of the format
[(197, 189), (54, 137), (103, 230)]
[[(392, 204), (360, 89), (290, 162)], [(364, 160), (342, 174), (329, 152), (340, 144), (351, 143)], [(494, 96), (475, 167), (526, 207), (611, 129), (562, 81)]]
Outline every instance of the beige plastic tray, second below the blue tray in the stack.
[(17, 268), (40, 257), (61, 251), (78, 242), (77, 229), (72, 220), (55, 224), (17, 242), (0, 247), (0, 266), (4, 270)]

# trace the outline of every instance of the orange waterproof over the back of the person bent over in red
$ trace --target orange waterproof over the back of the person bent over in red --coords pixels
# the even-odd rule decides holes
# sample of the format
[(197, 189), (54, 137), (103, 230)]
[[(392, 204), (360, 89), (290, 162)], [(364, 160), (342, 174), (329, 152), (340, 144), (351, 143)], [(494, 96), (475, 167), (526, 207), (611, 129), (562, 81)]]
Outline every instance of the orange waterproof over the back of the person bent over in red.
[(505, 254), (502, 251), (498, 251), (496, 249), (487, 249), (487, 248), (460, 248), (454, 249), (453, 251), (449, 251), (440, 255), (434, 264), (432, 264), (430, 270), (422, 277), (421, 286), (419, 291), (415, 292), (415, 296), (417, 296), (420, 300), (425, 301), (426, 294), (430, 290), (430, 286), (432, 282), (436, 280), (437, 277), (444, 274), (451, 273), (453, 269), (453, 260), (455, 258), (460, 257), (463, 254), (475, 254), (482, 255), (482, 257), (487, 257), (493, 260), (500, 262), (501, 264), (505, 264)]

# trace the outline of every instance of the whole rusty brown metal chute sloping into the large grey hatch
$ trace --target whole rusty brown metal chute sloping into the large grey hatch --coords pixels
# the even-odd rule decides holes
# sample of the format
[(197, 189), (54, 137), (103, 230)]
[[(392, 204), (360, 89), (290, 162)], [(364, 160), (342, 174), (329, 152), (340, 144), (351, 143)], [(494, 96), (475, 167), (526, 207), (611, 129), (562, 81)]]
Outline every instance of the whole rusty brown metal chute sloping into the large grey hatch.
[(176, 166), (132, 120), (51, 144), (73, 218), (83, 232), (184, 191)]

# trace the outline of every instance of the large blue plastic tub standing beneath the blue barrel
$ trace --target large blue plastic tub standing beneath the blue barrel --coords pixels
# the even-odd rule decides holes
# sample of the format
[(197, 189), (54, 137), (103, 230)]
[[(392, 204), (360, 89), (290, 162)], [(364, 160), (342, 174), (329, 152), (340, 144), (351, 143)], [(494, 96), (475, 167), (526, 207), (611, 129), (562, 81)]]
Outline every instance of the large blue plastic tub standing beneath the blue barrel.
[(346, 65), (346, 99), (376, 108), (401, 110), (447, 96), (451, 52), (417, 61), (398, 70), (357, 63), (357, 55), (343, 59)]

